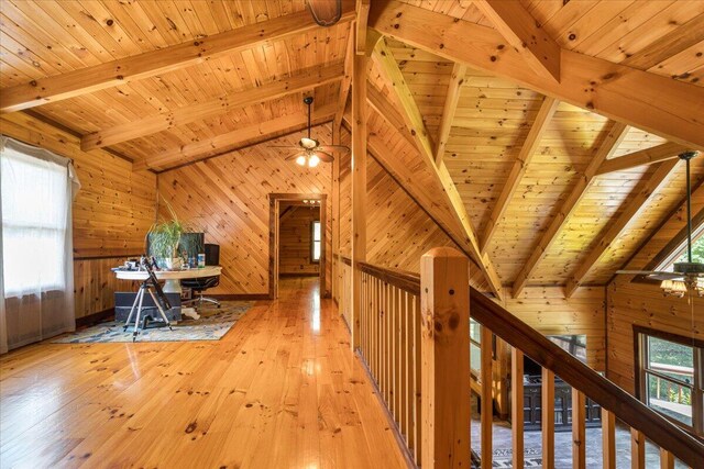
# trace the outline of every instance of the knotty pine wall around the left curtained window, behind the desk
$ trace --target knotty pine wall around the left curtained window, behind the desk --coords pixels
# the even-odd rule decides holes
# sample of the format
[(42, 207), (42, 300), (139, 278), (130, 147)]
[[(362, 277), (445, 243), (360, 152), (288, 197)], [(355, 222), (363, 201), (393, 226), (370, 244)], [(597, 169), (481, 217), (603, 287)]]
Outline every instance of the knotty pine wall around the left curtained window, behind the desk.
[(116, 290), (129, 290), (110, 267), (143, 252), (154, 222), (156, 177), (132, 171), (110, 153), (82, 152), (79, 138), (25, 113), (3, 114), (2, 134), (72, 158), (81, 183), (74, 201), (74, 289), (76, 317), (114, 305)]

